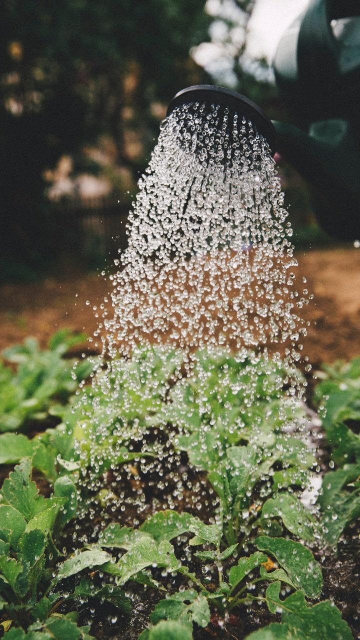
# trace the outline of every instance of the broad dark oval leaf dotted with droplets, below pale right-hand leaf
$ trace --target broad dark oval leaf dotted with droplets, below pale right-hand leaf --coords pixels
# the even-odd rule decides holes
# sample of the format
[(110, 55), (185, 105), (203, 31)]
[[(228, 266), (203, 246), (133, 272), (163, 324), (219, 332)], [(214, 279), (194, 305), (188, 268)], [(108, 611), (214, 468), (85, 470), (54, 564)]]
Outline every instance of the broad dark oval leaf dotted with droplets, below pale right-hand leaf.
[(303, 589), (309, 598), (318, 598), (322, 590), (322, 572), (309, 549), (300, 542), (285, 538), (256, 538), (256, 547), (275, 556), (279, 564), (288, 573), (293, 584)]

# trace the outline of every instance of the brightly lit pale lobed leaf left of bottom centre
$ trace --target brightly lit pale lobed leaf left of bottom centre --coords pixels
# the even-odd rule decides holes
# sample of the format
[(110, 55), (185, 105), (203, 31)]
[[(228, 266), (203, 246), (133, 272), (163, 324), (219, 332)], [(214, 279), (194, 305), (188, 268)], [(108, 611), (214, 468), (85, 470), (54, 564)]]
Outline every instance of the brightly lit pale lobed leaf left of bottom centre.
[(180, 563), (174, 554), (174, 547), (167, 540), (160, 545), (152, 538), (140, 538), (133, 547), (113, 566), (114, 575), (119, 576), (120, 584), (125, 584), (135, 573), (148, 566), (160, 566), (174, 571)]

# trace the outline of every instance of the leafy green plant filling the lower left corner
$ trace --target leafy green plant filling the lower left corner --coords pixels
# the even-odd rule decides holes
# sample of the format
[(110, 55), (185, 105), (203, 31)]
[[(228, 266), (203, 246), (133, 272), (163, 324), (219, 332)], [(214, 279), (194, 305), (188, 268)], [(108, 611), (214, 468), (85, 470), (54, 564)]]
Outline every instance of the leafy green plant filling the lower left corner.
[(35, 639), (38, 633), (44, 640), (90, 638), (88, 627), (76, 625), (76, 614), (56, 612), (64, 598), (76, 601), (83, 597), (85, 586), (93, 597), (116, 601), (117, 606), (129, 611), (129, 602), (119, 589), (96, 589), (93, 585), (89, 591), (90, 583), (72, 593), (61, 588), (70, 576), (111, 559), (101, 550), (84, 551), (65, 559), (56, 569), (62, 556), (56, 540), (76, 514), (76, 503), (76, 486), (67, 476), (56, 480), (50, 498), (40, 495), (31, 480), (29, 460), (22, 461), (4, 481), (0, 504), (1, 609), (17, 625), (7, 637)]

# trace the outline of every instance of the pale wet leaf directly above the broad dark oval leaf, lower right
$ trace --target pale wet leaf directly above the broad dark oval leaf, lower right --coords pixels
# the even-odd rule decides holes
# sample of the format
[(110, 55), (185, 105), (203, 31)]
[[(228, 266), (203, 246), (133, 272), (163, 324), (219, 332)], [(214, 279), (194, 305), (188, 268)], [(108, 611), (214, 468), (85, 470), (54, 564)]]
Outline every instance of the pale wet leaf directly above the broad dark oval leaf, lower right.
[(286, 529), (301, 540), (311, 542), (315, 539), (315, 519), (292, 493), (278, 493), (266, 500), (261, 515), (263, 518), (281, 518)]

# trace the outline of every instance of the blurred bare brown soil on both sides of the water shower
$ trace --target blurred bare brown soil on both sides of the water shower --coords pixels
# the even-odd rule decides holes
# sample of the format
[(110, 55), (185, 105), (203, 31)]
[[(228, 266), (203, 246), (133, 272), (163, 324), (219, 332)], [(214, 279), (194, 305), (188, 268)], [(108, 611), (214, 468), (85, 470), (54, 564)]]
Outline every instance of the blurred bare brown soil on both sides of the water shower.
[[(311, 321), (304, 354), (313, 365), (360, 356), (360, 249), (302, 250), (296, 256), (297, 278), (305, 276), (314, 294), (304, 310)], [(0, 349), (28, 335), (44, 345), (62, 327), (92, 335), (97, 324), (93, 307), (109, 289), (108, 280), (94, 273), (0, 287)]]

